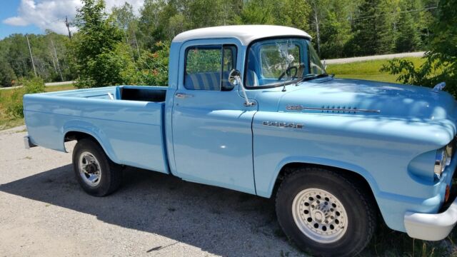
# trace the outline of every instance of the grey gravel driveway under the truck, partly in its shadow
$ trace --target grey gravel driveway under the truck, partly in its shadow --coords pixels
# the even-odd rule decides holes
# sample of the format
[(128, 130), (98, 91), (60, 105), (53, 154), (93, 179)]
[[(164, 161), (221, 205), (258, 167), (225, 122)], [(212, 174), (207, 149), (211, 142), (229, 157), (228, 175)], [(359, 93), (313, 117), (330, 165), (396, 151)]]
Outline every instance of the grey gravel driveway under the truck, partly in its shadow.
[[(0, 256), (300, 256), (273, 201), (129, 168), (111, 196), (76, 183), (71, 153), (0, 131)], [(74, 143), (67, 148), (72, 149)]]

